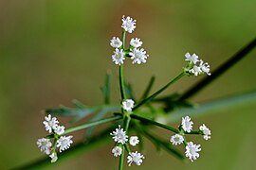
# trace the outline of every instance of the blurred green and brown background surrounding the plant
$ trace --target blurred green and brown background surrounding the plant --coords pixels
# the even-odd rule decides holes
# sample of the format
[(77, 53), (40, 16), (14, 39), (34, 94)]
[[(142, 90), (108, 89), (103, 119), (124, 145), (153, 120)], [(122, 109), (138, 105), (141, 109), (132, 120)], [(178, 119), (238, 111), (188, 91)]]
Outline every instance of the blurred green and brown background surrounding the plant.
[[(126, 79), (138, 97), (151, 76), (156, 76), (154, 90), (177, 76), (186, 52), (209, 61), (211, 69), (228, 59), (255, 37), (255, 8), (254, 0), (0, 1), (0, 169), (43, 158), (36, 146), (46, 135), (42, 110), (72, 106), (73, 98), (100, 105), (107, 70), (114, 76), (112, 99), (119, 102), (118, 67), (109, 42), (120, 36), (123, 14), (137, 19), (135, 33), (127, 38), (141, 38), (150, 55), (146, 64), (126, 62)], [(193, 101), (255, 90), (255, 57), (256, 50)], [(200, 78), (185, 77), (165, 93), (184, 92)], [(203, 150), (197, 161), (178, 161), (148, 144), (143, 164), (129, 169), (256, 169), (255, 109), (254, 102), (193, 119), (212, 131), (209, 142), (198, 139)], [(169, 140), (170, 134), (163, 137)], [(117, 169), (111, 148), (46, 169)]]

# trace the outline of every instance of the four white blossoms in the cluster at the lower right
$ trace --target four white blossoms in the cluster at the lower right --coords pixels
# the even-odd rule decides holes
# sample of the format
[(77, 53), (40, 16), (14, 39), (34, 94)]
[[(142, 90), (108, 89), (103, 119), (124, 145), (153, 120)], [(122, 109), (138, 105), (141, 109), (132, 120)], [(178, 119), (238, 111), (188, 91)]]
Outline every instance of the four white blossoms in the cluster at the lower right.
[[(188, 157), (191, 161), (199, 158), (199, 151), (201, 151), (200, 144), (193, 144), (192, 142), (187, 142), (184, 134), (190, 134), (192, 132), (193, 122), (189, 116), (182, 117), (181, 125), (179, 126), (179, 133), (174, 134), (170, 142), (174, 145), (185, 144), (186, 145), (186, 157)], [(197, 131), (198, 134), (204, 135), (205, 140), (210, 139), (210, 129), (206, 127), (204, 124), (199, 127)]]

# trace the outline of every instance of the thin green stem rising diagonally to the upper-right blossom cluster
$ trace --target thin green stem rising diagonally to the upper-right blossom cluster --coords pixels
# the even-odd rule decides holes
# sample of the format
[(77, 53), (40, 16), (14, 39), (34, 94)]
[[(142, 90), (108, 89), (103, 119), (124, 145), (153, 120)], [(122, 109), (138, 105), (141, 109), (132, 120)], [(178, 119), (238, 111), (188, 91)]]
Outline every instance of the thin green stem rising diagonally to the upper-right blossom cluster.
[(171, 84), (173, 84), (174, 82), (176, 82), (178, 79), (180, 79), (182, 76), (185, 76), (185, 73), (182, 72), (181, 74), (179, 74), (178, 76), (174, 77), (173, 80), (171, 80), (169, 83), (167, 83), (164, 87), (162, 87), (160, 90), (158, 90), (157, 92), (153, 93), (151, 96), (145, 98), (144, 100), (142, 100), (141, 102), (139, 102), (137, 104), (137, 106), (135, 106), (135, 108), (133, 110), (137, 110), (140, 106), (150, 102), (152, 99), (155, 98), (156, 95), (158, 95), (159, 93), (163, 92), (164, 90), (166, 90)]

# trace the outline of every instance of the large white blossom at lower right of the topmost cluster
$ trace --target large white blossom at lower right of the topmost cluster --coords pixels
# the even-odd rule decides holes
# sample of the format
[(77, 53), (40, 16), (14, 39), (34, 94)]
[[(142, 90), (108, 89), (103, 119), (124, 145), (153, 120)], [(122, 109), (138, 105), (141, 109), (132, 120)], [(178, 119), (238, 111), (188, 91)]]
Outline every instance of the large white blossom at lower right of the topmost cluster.
[(149, 57), (149, 55), (146, 55), (146, 51), (143, 48), (134, 48), (129, 55), (131, 56), (131, 59), (133, 59), (133, 64), (145, 63), (147, 61), (146, 59)]

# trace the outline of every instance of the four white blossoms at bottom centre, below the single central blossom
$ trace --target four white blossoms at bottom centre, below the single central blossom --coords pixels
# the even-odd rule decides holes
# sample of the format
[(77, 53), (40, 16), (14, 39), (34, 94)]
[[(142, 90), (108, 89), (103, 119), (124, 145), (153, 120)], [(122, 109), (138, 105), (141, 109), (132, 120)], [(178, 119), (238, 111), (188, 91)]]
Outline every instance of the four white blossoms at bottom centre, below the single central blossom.
[[(126, 132), (123, 130), (123, 128), (120, 127), (116, 128), (115, 131), (110, 133), (113, 140), (118, 144), (112, 149), (112, 153), (114, 157), (119, 157), (121, 154), (124, 154), (122, 152), (121, 144), (126, 144), (128, 142), (128, 136), (126, 135)], [(131, 136), (129, 139), (129, 144), (132, 146), (136, 146), (139, 143), (137, 136)], [(132, 162), (135, 162), (137, 165), (140, 165), (142, 163), (142, 159), (144, 159), (144, 156), (139, 152), (129, 152), (129, 155), (127, 157), (127, 162), (129, 163), (129, 166), (131, 166)]]

